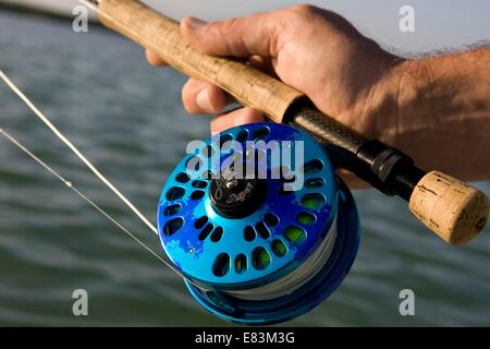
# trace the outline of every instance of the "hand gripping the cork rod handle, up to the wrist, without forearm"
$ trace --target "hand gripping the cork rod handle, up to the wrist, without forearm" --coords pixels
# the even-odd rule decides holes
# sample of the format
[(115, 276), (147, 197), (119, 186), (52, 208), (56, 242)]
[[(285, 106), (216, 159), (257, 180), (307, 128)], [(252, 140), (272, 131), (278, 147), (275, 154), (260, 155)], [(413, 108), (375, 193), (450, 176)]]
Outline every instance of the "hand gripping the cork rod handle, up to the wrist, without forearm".
[[(379, 137), (377, 116), (380, 105), (385, 104), (380, 85), (401, 60), (340, 15), (296, 5), (215, 23), (187, 17), (181, 31), (196, 49), (243, 58), (304, 92), (326, 115), (367, 136)], [(152, 52), (148, 51), (147, 58), (154, 65), (166, 64)], [(215, 113), (234, 103), (219, 87), (195, 79), (185, 84), (182, 99), (191, 113)], [(262, 120), (257, 110), (242, 108), (216, 117), (211, 132)]]

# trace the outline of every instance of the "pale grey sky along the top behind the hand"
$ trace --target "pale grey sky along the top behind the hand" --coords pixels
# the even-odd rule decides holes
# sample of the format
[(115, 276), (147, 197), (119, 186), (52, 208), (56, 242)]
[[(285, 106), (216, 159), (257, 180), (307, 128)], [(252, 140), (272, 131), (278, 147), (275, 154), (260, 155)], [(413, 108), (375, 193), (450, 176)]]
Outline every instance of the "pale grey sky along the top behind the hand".
[[(71, 12), (75, 0), (0, 0), (36, 4)], [(293, 0), (145, 0), (146, 3), (181, 19), (194, 15), (207, 21), (270, 11), (305, 1)], [(309, 3), (335, 11), (362, 33), (381, 45), (402, 52), (451, 50), (490, 40), (490, 1), (487, 0), (310, 0)], [(399, 28), (403, 5), (415, 10), (415, 32)]]

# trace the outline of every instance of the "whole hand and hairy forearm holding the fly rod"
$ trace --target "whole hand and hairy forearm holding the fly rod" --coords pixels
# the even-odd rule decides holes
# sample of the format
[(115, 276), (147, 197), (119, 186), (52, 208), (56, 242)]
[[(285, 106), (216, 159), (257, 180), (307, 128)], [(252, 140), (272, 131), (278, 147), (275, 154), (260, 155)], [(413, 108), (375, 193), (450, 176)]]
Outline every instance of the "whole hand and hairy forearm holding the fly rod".
[[(384, 51), (336, 13), (311, 5), (206, 23), (185, 19), (182, 34), (211, 56), (240, 57), (304, 92), (319, 110), (380, 139), (426, 170), (490, 180), (490, 48), (405, 60)], [(150, 63), (164, 65), (147, 52)], [(252, 108), (220, 113), (233, 100), (191, 79), (191, 113), (218, 113), (211, 132), (262, 121)], [(366, 186), (342, 173), (352, 188)]]

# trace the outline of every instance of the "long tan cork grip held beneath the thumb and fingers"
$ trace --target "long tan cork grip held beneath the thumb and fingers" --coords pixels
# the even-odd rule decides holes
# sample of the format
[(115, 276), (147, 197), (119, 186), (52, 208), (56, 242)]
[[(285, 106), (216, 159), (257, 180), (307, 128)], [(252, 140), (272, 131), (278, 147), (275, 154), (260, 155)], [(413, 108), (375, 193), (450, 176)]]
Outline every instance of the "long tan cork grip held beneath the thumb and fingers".
[(289, 107), (304, 95), (254, 68), (193, 49), (179, 23), (136, 0), (99, 0), (103, 25), (159, 55), (182, 73), (212, 82), (241, 104), (282, 122)]

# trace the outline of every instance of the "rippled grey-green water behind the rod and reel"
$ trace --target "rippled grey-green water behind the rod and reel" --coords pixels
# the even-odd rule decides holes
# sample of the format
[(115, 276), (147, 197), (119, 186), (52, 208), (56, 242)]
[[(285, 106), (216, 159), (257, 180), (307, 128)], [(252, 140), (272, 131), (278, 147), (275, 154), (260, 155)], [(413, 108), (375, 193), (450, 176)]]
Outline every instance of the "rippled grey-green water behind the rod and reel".
[[(0, 13), (0, 67), (127, 196), (155, 220), (167, 176), (207, 118), (180, 104), (185, 79), (155, 70), (126, 39), (91, 27)], [(0, 127), (73, 181), (155, 251), (159, 241), (0, 86)], [(161, 262), (42, 168), (0, 139), (0, 325), (228, 325), (207, 314)], [(489, 183), (478, 186), (490, 193)], [(356, 192), (363, 240), (338, 291), (297, 326), (490, 325), (489, 229), (463, 248), (444, 244), (406, 205)], [(86, 289), (89, 316), (72, 314)], [(402, 317), (399, 292), (416, 294)]]

